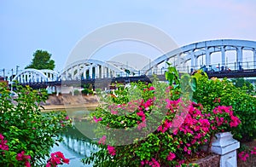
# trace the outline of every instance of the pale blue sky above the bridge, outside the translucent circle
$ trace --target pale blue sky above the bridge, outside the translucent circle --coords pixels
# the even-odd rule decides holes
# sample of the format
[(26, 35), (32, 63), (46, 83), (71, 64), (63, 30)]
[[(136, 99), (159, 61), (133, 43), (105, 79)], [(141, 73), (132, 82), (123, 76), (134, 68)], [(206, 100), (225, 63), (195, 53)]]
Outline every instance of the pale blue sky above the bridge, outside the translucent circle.
[(179, 46), (218, 38), (256, 41), (254, 0), (3, 0), (0, 21), (0, 70), (7, 72), (27, 66), (37, 49), (49, 51), (61, 71), (82, 37), (122, 21), (158, 27)]

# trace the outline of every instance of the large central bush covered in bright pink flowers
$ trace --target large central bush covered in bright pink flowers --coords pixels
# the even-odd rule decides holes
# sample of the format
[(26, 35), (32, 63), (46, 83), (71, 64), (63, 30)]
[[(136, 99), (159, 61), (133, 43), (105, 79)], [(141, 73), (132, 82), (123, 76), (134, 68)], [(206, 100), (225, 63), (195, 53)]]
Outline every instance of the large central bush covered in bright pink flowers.
[[(107, 107), (99, 107), (92, 113), (93, 121), (106, 129), (101, 127), (96, 130), (100, 138), (98, 147), (102, 149), (91, 153), (90, 158), (84, 158), (84, 164), (186, 165), (186, 159), (198, 153), (199, 147), (210, 141), (212, 134), (240, 124), (231, 107), (218, 106), (212, 108), (211, 112), (205, 112), (201, 104), (189, 101), (187, 94), (180, 97), (182, 86), (188, 88), (177, 80), (175, 70), (171, 75), (166, 75), (168, 77), (175, 84), (132, 83), (131, 88), (125, 91), (115, 91), (115, 96), (107, 99)], [(135, 87), (139, 90), (134, 90)], [(129, 94), (125, 97), (125, 93), (136, 94), (136, 91), (142, 93), (140, 98), (132, 96), (131, 101), (127, 101)], [(117, 92), (123, 100), (117, 100)], [(119, 135), (119, 129), (124, 129), (125, 133)], [(133, 142), (130, 144), (131, 140)], [(125, 142), (129, 144), (125, 145)]]

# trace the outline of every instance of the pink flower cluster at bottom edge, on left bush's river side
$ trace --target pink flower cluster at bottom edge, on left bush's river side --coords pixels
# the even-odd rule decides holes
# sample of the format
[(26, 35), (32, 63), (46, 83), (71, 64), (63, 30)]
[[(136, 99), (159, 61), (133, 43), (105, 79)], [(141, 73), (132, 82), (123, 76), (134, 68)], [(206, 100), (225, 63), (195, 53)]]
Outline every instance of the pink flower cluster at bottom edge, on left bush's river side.
[(46, 167), (55, 167), (58, 164), (69, 164), (69, 159), (65, 158), (63, 153), (55, 152), (50, 154), (50, 158), (47, 161)]

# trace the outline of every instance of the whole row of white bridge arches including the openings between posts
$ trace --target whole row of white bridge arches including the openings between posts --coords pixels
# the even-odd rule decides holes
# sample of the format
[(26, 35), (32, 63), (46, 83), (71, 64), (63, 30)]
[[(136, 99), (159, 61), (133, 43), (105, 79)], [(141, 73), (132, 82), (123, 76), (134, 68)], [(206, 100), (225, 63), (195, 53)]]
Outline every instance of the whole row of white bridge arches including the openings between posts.
[[(233, 60), (228, 60), (228, 57)], [(213, 60), (215, 63), (212, 63)], [(66, 66), (60, 73), (51, 70), (26, 69), (18, 73), (13, 80), (20, 83), (43, 83), (61, 80), (135, 77), (152, 73), (160, 75), (166, 70), (166, 61), (177, 66), (179, 72), (191, 72), (202, 67), (206, 71), (215, 72), (255, 70), (256, 41), (218, 39), (192, 43), (161, 55), (142, 69), (115, 61), (90, 59), (76, 61)]]

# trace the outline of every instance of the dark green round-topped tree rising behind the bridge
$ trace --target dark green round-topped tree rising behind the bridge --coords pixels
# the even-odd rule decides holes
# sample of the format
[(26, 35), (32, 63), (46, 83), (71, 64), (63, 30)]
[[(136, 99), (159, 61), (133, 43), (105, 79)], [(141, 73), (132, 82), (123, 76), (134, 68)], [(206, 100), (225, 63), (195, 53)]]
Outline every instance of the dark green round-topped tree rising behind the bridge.
[(55, 68), (55, 60), (50, 59), (51, 54), (44, 50), (37, 50), (33, 54), (32, 63), (26, 68), (34, 68), (38, 70), (49, 69), (53, 70)]

